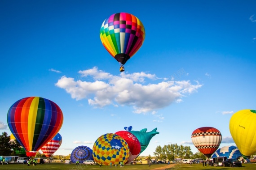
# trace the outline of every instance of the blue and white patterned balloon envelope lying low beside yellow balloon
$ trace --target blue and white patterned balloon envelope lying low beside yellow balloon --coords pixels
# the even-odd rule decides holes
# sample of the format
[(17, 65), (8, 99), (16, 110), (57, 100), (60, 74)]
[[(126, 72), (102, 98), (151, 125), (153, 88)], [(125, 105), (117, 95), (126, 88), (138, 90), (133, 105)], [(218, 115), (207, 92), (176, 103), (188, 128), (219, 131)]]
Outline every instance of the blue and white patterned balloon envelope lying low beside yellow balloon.
[(215, 153), (212, 154), (211, 158), (214, 157), (227, 157), (238, 159), (242, 157), (242, 154), (240, 153), (239, 149), (236, 146), (223, 146), (222, 148), (219, 148), (218, 150), (216, 150)]

